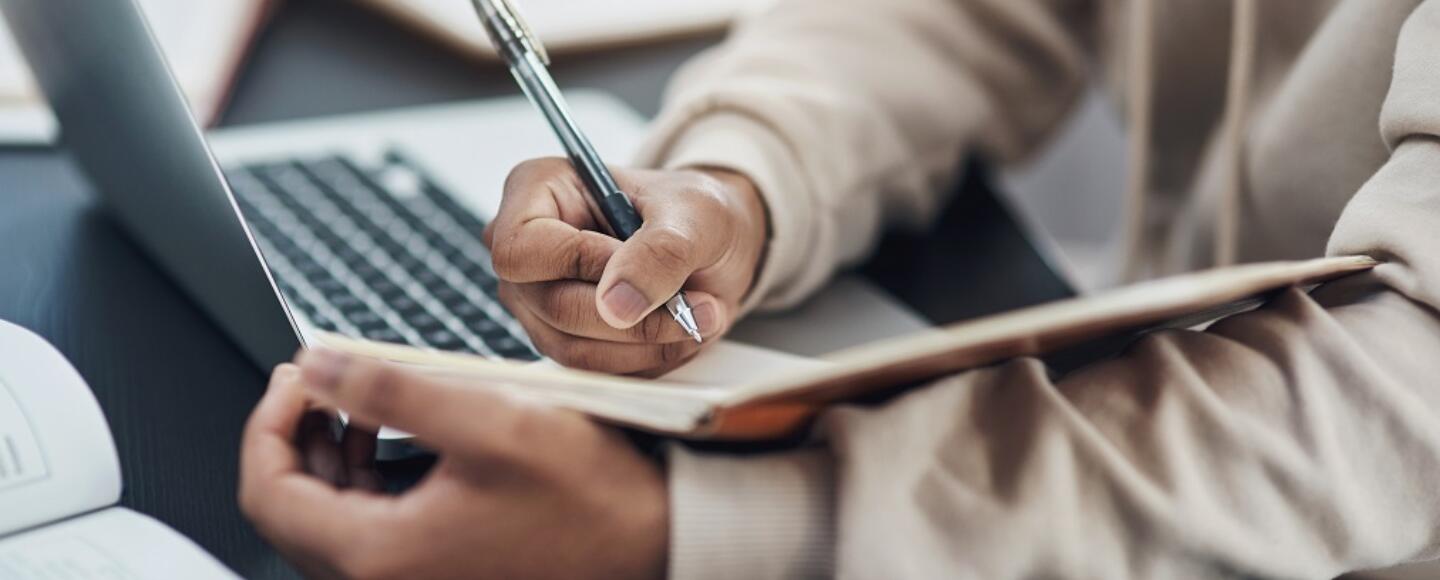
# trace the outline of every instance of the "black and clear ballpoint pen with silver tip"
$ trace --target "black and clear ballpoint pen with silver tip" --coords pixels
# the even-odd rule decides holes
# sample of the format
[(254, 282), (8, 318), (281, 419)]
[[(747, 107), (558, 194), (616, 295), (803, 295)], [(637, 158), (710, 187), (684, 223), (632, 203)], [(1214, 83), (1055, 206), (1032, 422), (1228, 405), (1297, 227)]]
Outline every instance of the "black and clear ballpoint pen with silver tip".
[[(550, 56), (546, 55), (544, 46), (540, 45), (510, 0), (471, 0), (471, 3), (475, 4), (475, 12), (480, 14), (481, 23), (485, 24), (485, 32), (495, 45), (495, 50), (510, 65), (510, 73), (516, 76), (516, 82), (520, 83), (526, 96), (540, 109), (556, 137), (560, 138), (570, 163), (580, 174), (580, 181), (590, 190), (590, 196), (612, 233), (621, 242), (628, 240), (642, 225), (639, 213), (635, 212), (635, 206), (631, 204), (625, 191), (621, 191), (615, 177), (611, 176), (609, 168), (590, 145), (590, 140), (580, 132), (580, 127), (570, 115), (570, 108), (547, 69)], [(685, 330), (685, 334), (690, 334), (696, 343), (703, 343), (700, 325), (696, 324), (696, 315), (690, 302), (685, 301), (684, 291), (667, 301), (665, 308)]]

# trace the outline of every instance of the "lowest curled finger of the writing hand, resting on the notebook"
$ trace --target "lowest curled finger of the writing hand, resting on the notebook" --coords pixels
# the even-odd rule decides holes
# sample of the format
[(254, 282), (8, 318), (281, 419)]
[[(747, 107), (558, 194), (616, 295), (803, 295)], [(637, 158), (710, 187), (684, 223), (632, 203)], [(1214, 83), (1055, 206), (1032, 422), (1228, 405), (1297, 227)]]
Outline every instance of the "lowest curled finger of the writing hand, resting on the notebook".
[[(665, 344), (606, 343), (573, 337), (540, 321), (533, 312), (514, 312), (540, 353), (570, 368), (609, 374), (660, 376), (680, 367), (697, 353), (700, 344), (684, 340)], [(671, 322), (674, 324), (674, 322)]]

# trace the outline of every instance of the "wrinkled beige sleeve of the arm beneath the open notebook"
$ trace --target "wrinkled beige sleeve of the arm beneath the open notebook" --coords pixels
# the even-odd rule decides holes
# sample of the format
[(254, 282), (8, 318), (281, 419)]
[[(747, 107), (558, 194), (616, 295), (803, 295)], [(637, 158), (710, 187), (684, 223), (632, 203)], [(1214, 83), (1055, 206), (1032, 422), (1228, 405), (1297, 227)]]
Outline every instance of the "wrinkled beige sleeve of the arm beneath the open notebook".
[[(1436, 55), (1427, 0), (1382, 114), (1392, 157), (1331, 242), (1375, 272), (1058, 381), (1018, 360), (831, 412), (812, 473), (832, 473), (832, 512), (786, 512), (832, 522), (841, 577), (1335, 577), (1440, 557)], [(672, 478), (720, 461), (769, 472), (691, 458)]]

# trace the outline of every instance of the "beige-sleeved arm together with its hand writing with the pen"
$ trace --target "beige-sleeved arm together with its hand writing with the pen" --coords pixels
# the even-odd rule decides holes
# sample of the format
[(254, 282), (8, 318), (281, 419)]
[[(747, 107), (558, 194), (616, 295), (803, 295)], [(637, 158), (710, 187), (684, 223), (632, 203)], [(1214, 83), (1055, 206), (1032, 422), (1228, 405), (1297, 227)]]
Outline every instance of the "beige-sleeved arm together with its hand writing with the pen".
[(569, 166), (516, 168), (487, 232), (500, 299), (562, 364), (661, 374), (698, 351), (658, 309), (684, 288), (708, 343), (916, 223), (972, 150), (1031, 150), (1083, 86), (1092, 0), (785, 0), (674, 83), (616, 170), (645, 226), (598, 233)]

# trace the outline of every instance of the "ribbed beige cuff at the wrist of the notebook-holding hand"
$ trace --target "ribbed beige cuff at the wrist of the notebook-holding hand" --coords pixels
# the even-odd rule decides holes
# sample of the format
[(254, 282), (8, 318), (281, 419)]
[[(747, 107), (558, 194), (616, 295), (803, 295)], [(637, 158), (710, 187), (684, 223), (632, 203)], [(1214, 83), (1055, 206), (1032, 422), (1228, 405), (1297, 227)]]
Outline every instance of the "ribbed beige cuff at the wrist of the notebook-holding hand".
[(834, 489), (822, 450), (733, 458), (671, 448), (670, 579), (829, 577)]

